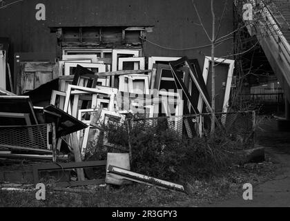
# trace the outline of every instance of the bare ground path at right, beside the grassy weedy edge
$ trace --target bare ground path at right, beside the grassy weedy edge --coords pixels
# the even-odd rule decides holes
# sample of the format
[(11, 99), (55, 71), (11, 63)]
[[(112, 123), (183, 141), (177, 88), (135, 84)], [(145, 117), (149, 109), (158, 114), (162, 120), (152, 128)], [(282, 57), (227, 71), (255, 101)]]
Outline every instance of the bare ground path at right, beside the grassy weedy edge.
[(270, 155), (271, 161), (280, 164), (281, 168), (276, 177), (253, 186), (253, 200), (243, 200), (240, 195), (203, 206), (290, 206), (290, 132), (279, 132), (275, 119), (265, 119), (258, 128), (257, 142), (266, 147), (266, 153)]

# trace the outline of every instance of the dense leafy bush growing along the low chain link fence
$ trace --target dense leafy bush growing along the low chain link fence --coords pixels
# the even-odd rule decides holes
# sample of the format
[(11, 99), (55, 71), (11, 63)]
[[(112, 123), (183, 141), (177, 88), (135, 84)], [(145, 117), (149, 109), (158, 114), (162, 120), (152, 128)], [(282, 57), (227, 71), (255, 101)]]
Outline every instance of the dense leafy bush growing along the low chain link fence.
[(128, 153), (130, 140), (132, 171), (172, 182), (187, 182), (191, 177), (210, 177), (224, 171), (235, 162), (235, 153), (241, 149), (240, 141), (226, 136), (225, 131), (216, 130), (214, 136), (189, 140), (167, 125), (166, 119), (154, 125), (140, 121), (134, 124), (129, 139), (126, 124), (108, 124), (104, 137), (124, 149), (101, 146), (98, 151), (89, 150), (88, 155), (104, 160), (108, 152)]

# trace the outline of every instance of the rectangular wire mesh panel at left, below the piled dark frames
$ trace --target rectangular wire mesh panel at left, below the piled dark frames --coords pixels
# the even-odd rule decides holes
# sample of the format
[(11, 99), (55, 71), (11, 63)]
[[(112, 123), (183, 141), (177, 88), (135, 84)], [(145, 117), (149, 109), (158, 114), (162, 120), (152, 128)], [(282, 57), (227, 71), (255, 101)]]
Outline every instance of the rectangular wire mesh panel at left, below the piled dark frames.
[(0, 146), (51, 149), (51, 124), (35, 126), (0, 126)]

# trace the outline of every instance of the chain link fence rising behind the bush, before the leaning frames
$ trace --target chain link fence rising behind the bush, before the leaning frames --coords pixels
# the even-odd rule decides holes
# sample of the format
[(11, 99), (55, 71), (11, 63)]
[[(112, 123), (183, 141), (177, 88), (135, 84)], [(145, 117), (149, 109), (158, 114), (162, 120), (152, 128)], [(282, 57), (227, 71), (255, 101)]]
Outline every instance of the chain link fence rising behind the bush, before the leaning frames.
[[(154, 128), (155, 131), (175, 131), (179, 139), (210, 137), (211, 114), (184, 115), (177, 117), (138, 116), (128, 119), (131, 130)], [(215, 113), (215, 133), (228, 137), (242, 146), (251, 148), (255, 144), (255, 111)]]

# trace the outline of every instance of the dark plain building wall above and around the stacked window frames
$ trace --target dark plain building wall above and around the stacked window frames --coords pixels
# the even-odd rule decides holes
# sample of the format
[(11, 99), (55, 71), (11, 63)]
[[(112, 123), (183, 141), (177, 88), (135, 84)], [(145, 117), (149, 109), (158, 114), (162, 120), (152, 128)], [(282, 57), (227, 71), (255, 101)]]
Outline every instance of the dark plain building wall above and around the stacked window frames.
[[(10, 3), (14, 0), (7, 0)], [(215, 13), (222, 15), (226, 0), (215, 0)], [(195, 0), (211, 33), (210, 0)], [(233, 31), (232, 1), (227, 1), (220, 36)], [(46, 5), (46, 21), (35, 19), (37, 3)], [(210, 44), (204, 35), (191, 0), (24, 0), (0, 9), (0, 37), (9, 37), (11, 52), (55, 52), (57, 38), (50, 26), (154, 26), (147, 39), (171, 48), (191, 48)], [(216, 56), (231, 54), (233, 40), (220, 44)], [(210, 48), (167, 50), (144, 45), (146, 56), (197, 58), (203, 66)]]

